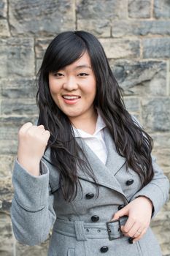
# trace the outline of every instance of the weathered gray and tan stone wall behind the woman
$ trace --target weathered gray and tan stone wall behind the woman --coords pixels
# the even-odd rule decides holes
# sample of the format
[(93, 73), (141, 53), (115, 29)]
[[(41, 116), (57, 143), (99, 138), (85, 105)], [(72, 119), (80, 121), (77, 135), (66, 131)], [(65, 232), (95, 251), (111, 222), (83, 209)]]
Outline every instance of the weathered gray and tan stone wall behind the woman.
[[(0, 255), (47, 255), (15, 241), (9, 209), (18, 128), (37, 117), (34, 78), (56, 34), (83, 29), (100, 39), (124, 89), (125, 105), (155, 140), (153, 154), (170, 178), (170, 1), (0, 1)], [(152, 228), (170, 255), (170, 203)], [(151, 255), (154, 256), (154, 255)]]

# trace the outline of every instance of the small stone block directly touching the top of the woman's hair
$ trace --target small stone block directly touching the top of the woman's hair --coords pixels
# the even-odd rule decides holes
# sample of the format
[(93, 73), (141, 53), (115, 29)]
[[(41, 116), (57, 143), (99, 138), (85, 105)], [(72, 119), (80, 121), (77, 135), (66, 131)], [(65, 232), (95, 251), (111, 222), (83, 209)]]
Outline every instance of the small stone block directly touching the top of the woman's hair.
[(85, 30), (96, 37), (110, 37), (109, 20), (77, 20), (77, 29)]

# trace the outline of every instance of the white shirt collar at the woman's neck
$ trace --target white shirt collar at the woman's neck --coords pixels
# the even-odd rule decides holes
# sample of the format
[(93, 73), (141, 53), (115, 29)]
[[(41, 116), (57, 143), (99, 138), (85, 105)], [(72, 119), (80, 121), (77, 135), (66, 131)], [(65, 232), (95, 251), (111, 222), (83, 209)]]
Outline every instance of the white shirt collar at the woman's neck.
[(74, 137), (80, 137), (80, 138), (90, 138), (95, 136), (98, 132), (101, 131), (101, 129), (104, 129), (104, 127), (106, 127), (106, 124), (104, 123), (103, 118), (101, 117), (100, 113), (98, 113), (98, 118), (96, 121), (96, 129), (93, 135), (90, 135), (88, 132), (83, 131), (82, 129), (76, 129), (74, 126), (72, 126), (73, 128), (73, 132), (74, 132)]

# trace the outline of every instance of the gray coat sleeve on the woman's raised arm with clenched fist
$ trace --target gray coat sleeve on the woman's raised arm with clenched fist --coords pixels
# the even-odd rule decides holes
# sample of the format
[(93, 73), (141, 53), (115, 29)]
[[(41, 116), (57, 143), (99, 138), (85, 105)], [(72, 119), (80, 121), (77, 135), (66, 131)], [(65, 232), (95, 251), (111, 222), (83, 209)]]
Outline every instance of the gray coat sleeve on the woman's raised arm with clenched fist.
[(15, 160), (12, 173), (14, 196), (11, 218), (15, 238), (23, 244), (40, 244), (47, 239), (56, 216), (54, 196), (49, 184), (49, 170), (40, 162), (41, 176), (32, 176)]

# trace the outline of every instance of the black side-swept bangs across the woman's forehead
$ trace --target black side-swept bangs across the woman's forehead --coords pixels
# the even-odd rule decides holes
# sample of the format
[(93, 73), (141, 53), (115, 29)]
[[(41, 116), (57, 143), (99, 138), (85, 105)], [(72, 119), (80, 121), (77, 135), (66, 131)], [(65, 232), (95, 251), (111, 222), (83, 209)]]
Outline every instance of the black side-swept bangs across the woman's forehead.
[(87, 51), (85, 42), (73, 32), (59, 34), (50, 43), (44, 58), (44, 71), (55, 72), (72, 64)]

